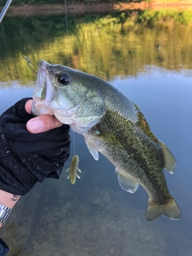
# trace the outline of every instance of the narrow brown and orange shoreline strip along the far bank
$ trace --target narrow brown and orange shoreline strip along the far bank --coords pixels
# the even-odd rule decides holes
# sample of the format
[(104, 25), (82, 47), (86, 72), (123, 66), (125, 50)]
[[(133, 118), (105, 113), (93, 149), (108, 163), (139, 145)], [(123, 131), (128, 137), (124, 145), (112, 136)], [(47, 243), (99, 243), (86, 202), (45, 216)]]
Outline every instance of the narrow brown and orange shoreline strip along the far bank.
[[(0, 6), (0, 11), (3, 6)], [(110, 13), (118, 10), (162, 10), (162, 9), (175, 9), (175, 10), (192, 10), (192, 0), (180, 2), (120, 2), (115, 4), (112, 2), (75, 2), (65, 4), (40, 4), (40, 5), (23, 5), (23, 6), (10, 6), (7, 14), (14, 15), (40, 15), (40, 14), (93, 14), (93, 13)]]

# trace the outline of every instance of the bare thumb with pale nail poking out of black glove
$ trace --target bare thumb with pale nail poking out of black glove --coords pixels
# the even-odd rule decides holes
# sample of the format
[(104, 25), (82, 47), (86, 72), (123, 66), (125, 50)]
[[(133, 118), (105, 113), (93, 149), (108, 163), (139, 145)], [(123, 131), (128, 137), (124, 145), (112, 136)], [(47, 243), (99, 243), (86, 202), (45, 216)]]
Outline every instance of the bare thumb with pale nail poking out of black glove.
[(62, 126), (62, 122), (59, 122), (54, 116), (47, 114), (31, 118), (26, 123), (26, 129), (32, 134), (42, 133), (60, 126)]

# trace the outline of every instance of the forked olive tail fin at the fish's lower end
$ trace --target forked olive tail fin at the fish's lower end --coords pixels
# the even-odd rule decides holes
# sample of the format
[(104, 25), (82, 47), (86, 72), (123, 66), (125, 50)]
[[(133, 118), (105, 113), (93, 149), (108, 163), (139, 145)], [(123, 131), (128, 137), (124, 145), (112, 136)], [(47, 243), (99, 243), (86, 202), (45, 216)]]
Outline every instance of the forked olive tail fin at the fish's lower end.
[(179, 209), (177, 202), (174, 201), (174, 198), (171, 195), (170, 197), (171, 198), (168, 201), (159, 204), (149, 200), (146, 208), (146, 220), (148, 222), (153, 221), (161, 215), (170, 219), (182, 218), (182, 212)]

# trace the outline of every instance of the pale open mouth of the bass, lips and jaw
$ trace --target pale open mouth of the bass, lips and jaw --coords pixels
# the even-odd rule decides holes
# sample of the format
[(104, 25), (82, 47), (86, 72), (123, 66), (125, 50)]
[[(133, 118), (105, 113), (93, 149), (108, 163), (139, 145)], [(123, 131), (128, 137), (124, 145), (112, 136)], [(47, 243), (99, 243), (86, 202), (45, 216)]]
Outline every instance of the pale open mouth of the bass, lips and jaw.
[(41, 60), (38, 63), (38, 78), (36, 81), (36, 86), (33, 95), (32, 102), (32, 114), (41, 115), (41, 114), (50, 114), (54, 115), (54, 110), (50, 106), (50, 102), (55, 97), (55, 90), (50, 83), (49, 72), (48, 72), (49, 63)]

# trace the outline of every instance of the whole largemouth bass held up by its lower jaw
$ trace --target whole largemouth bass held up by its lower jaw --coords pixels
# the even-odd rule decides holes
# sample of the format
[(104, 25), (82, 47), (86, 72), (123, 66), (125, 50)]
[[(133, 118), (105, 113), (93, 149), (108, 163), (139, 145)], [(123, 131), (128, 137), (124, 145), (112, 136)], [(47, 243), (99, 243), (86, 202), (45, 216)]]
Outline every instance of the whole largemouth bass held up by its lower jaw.
[(174, 173), (174, 155), (154, 136), (139, 107), (109, 82), (41, 60), (32, 112), (54, 115), (82, 134), (95, 160), (100, 152), (114, 165), (123, 190), (134, 193), (141, 185), (149, 195), (147, 221), (182, 217), (164, 175), (164, 169)]

